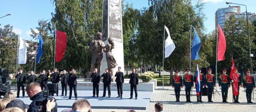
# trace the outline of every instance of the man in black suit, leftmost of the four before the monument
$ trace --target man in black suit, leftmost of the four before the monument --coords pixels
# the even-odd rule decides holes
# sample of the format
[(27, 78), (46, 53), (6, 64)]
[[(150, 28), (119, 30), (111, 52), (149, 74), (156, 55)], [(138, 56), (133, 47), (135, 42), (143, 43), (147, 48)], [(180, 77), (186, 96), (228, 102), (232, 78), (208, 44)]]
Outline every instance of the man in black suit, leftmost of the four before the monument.
[(93, 97), (95, 97), (95, 90), (97, 97), (99, 97), (99, 81), (101, 80), (101, 76), (99, 75), (97, 68), (94, 69), (91, 77), (91, 82), (93, 82)]

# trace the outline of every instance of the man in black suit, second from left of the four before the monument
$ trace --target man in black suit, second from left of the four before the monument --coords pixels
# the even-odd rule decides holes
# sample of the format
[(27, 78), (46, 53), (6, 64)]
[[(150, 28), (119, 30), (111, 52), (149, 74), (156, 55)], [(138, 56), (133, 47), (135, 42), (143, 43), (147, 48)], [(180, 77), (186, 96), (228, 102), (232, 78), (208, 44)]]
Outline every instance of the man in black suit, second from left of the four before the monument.
[(108, 88), (108, 95), (109, 97), (111, 96), (111, 91), (110, 91), (110, 84), (111, 84), (111, 73), (109, 73), (108, 69), (105, 69), (105, 73), (101, 75), (103, 77), (103, 96), (106, 96), (106, 88)]

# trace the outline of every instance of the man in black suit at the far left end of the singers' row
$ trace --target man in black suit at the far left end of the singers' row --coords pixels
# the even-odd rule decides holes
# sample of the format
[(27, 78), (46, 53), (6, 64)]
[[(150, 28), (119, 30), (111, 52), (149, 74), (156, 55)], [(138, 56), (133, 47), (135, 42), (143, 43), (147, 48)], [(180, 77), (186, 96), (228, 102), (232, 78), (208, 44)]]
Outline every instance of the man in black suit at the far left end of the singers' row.
[(19, 74), (16, 75), (15, 78), (17, 79), (16, 83), (17, 83), (17, 88), (18, 88), (17, 98), (19, 98), (20, 86), (21, 86), (21, 89), (22, 89), (22, 98), (24, 98), (24, 96), (25, 96), (24, 86), (25, 86), (25, 82), (26, 82), (26, 76), (25, 76), (25, 74), (23, 74), (22, 69), (19, 70)]

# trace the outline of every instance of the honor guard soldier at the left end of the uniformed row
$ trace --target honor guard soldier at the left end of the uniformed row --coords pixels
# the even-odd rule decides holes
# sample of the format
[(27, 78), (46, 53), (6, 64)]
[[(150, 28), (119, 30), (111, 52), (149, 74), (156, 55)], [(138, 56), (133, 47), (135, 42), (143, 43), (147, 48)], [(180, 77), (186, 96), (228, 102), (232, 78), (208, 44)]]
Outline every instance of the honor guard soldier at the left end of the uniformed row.
[(180, 89), (183, 87), (182, 77), (179, 76), (179, 72), (180, 72), (179, 70), (175, 71), (175, 76), (173, 77), (173, 80), (172, 80), (176, 102), (180, 102)]

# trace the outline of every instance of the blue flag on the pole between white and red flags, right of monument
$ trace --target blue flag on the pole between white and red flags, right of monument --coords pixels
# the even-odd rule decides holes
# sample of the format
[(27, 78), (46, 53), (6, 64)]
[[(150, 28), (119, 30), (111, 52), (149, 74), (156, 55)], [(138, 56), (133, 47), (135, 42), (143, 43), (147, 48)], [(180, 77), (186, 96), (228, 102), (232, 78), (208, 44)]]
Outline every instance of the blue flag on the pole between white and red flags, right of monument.
[(197, 35), (196, 29), (194, 28), (194, 37), (193, 37), (192, 52), (191, 52), (192, 60), (199, 59), (198, 53), (199, 53), (200, 47), (201, 47), (201, 40), (200, 40), (199, 36)]

